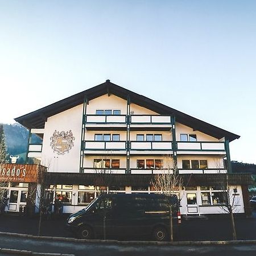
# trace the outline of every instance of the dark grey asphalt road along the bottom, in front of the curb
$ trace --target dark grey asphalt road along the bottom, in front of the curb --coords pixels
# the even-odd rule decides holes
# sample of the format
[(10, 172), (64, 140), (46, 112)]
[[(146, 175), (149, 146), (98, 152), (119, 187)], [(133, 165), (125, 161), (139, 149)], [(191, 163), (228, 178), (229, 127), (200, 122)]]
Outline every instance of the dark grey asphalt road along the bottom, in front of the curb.
[[(0, 247), (32, 250), (40, 253), (66, 253), (76, 256), (150, 256), (150, 255), (207, 255), (207, 256), (255, 256), (256, 243), (246, 245), (147, 245), (100, 242), (63, 242), (31, 238), (0, 236)], [(1, 254), (0, 254), (1, 255)], [(4, 254), (2, 254), (4, 255)]]

